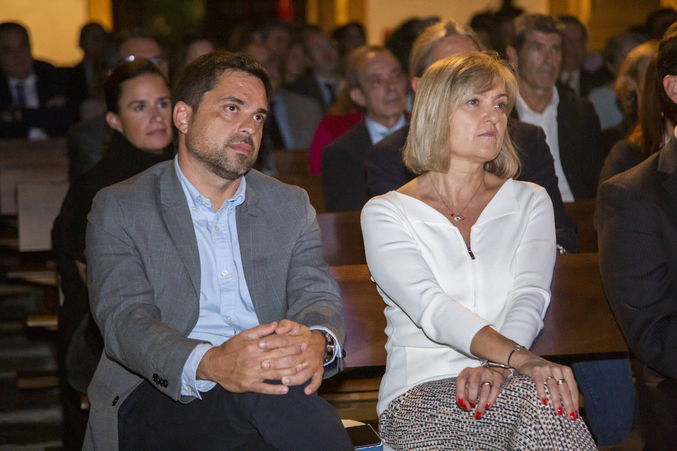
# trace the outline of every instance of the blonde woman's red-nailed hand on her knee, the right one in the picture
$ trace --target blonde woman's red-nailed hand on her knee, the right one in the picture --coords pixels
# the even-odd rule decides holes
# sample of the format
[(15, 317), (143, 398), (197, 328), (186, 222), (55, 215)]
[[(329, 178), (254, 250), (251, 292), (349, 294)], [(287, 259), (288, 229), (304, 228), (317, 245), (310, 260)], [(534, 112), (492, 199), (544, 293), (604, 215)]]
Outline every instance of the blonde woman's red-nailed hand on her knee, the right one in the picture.
[(578, 418), (578, 387), (569, 366), (549, 362), (531, 352), (515, 353), (511, 362), (519, 374), (533, 379), (543, 404), (548, 403), (544, 388), (547, 385), (552, 407), (557, 413), (566, 413), (571, 420)]

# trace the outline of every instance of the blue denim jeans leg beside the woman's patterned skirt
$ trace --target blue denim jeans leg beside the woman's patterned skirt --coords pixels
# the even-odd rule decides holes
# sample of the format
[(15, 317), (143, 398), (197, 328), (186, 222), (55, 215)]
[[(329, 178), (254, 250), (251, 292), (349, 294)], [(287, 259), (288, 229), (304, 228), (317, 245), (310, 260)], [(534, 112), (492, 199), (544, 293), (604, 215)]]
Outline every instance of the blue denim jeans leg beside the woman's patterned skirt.
[(627, 358), (571, 363), (598, 446), (617, 444), (632, 431), (635, 388)]

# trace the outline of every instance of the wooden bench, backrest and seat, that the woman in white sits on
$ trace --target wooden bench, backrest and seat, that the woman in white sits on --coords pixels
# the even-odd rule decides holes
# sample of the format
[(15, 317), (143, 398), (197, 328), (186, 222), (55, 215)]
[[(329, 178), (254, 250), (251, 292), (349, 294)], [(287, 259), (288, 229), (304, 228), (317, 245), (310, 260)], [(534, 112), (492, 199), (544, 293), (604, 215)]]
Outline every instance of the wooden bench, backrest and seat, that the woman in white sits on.
[[(325, 381), (320, 394), (342, 417), (373, 420), (386, 362), (385, 304), (366, 265), (334, 266), (330, 272), (341, 287), (347, 371)], [(628, 352), (603, 291), (597, 254), (558, 256), (551, 291), (533, 352), (541, 356), (598, 354), (601, 358)]]

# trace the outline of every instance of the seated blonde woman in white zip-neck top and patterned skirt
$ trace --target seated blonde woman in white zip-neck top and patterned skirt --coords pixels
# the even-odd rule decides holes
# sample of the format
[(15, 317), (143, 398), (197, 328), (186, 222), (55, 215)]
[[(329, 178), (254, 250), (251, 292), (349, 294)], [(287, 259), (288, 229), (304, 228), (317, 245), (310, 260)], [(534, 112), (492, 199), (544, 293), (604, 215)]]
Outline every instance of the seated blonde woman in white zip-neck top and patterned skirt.
[(433, 64), (403, 156), (420, 175), (362, 210), (387, 304), (380, 433), (395, 449), (596, 449), (571, 369), (527, 350), (556, 250), (548, 193), (512, 179), (516, 96), (494, 53)]

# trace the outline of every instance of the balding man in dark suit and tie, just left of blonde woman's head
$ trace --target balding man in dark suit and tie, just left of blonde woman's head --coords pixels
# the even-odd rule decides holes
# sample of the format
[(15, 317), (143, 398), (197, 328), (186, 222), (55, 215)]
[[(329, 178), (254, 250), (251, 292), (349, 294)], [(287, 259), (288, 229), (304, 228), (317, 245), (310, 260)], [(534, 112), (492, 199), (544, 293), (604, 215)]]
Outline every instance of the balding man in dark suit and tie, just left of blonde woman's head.
[(322, 151), (328, 212), (362, 210), (371, 197), (364, 170), (367, 149), (407, 124), (407, 79), (391, 51), (376, 45), (358, 47), (348, 57), (346, 78), (350, 98), (365, 118)]

